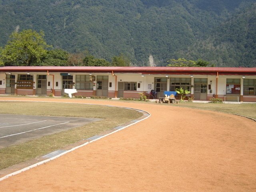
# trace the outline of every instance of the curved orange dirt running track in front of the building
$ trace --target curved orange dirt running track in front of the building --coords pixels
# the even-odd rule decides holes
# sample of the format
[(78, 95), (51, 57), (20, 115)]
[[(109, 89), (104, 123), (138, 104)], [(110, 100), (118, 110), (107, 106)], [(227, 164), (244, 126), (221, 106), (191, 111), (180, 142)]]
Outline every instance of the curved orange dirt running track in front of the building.
[(125, 106), (151, 116), (1, 181), (1, 192), (256, 191), (256, 122), (252, 120), (167, 104), (52, 101)]

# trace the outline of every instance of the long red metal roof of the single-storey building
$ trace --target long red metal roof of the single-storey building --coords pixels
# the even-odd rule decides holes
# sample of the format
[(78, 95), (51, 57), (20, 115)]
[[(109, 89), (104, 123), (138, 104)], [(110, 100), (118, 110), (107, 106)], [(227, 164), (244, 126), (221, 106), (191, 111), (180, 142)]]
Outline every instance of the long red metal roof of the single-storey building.
[(6, 66), (0, 72), (114, 72), (141, 74), (238, 74), (256, 75), (256, 68), (244, 67), (88, 67), (88, 66)]

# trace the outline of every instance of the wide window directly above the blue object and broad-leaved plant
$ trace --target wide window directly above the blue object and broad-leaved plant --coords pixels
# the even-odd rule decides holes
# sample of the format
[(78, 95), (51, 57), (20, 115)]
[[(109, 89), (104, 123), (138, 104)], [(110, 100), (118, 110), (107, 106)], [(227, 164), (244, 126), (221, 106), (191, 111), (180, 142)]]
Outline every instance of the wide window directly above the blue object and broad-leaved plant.
[(191, 91), (191, 78), (170, 78), (170, 91), (176, 88)]

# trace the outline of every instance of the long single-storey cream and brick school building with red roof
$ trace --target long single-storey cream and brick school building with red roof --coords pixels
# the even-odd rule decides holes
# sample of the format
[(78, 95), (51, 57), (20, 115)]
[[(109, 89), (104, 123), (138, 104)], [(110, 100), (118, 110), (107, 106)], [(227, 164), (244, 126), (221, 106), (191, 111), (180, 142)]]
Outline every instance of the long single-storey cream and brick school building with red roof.
[(188, 89), (194, 100), (256, 102), (256, 68), (228, 67), (0, 67), (0, 94), (139, 98), (150, 90)]

